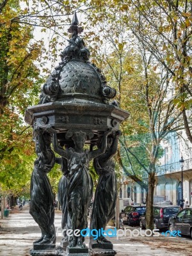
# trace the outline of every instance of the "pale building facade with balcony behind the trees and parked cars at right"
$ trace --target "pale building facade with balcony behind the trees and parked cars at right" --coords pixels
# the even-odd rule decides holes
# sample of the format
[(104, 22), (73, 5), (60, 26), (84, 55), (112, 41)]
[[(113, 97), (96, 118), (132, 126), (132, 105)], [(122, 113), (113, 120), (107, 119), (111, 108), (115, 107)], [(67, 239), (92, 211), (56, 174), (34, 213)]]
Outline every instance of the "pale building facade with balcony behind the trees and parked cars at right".
[[(183, 200), (192, 206), (192, 144), (185, 137), (184, 131), (170, 132), (163, 141), (161, 146), (164, 154), (156, 166), (154, 196), (164, 197), (173, 205), (180, 205), (183, 174)], [(179, 161), (181, 156), (184, 159), (183, 167)], [(124, 177), (119, 198), (121, 211), (128, 204), (145, 203), (146, 191), (133, 180)]]

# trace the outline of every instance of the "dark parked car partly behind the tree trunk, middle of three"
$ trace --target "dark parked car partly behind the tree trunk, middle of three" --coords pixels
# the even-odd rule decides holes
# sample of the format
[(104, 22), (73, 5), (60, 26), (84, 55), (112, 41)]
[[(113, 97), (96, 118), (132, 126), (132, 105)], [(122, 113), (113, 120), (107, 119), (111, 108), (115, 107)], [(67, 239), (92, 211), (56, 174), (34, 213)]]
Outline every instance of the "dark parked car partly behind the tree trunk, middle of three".
[[(168, 221), (171, 217), (176, 216), (179, 212), (179, 206), (172, 205), (161, 205), (154, 206), (154, 228), (161, 230), (162, 228), (168, 228)], [(140, 216), (140, 227), (146, 227), (146, 215), (143, 212), (143, 215)]]

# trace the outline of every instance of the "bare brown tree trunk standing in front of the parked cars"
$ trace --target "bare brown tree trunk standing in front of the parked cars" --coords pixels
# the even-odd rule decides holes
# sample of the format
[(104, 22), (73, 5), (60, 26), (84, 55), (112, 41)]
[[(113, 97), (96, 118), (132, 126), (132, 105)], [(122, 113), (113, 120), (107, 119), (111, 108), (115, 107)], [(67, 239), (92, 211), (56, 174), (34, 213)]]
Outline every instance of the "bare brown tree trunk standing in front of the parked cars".
[(155, 187), (155, 172), (148, 175), (148, 193), (146, 198), (146, 228), (153, 230), (154, 228), (154, 187)]

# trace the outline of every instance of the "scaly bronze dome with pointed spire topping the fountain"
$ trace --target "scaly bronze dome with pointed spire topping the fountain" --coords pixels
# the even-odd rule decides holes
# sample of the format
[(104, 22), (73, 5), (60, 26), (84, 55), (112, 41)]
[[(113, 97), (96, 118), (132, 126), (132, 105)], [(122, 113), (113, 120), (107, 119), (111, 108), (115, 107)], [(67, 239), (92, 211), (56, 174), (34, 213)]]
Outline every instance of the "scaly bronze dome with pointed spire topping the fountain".
[(90, 63), (90, 52), (78, 35), (83, 28), (78, 27), (76, 12), (68, 32), (72, 38), (61, 52), (61, 63), (45, 82), (40, 95), (40, 104), (54, 101), (108, 103), (116, 95), (116, 90), (106, 85), (106, 79), (99, 68)]

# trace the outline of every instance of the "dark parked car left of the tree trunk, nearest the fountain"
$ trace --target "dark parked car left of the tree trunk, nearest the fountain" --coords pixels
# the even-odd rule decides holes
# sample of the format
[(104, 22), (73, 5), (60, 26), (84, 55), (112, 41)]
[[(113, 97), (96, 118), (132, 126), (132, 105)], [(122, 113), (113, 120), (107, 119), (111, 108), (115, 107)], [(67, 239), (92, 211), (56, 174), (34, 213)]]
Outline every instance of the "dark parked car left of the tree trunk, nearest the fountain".
[(140, 216), (146, 211), (146, 206), (129, 205), (122, 210), (122, 219), (129, 226), (140, 224)]

